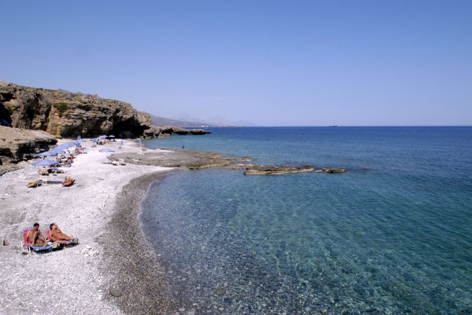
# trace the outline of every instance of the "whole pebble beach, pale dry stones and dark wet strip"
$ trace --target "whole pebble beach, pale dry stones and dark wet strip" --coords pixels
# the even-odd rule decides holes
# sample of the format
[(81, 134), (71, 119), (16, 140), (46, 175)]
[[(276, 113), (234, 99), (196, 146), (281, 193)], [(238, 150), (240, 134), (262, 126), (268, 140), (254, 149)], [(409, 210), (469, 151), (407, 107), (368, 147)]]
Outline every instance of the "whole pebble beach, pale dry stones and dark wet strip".
[[(60, 143), (69, 140), (62, 139)], [(168, 294), (163, 270), (144, 241), (137, 215), (148, 185), (178, 168), (112, 165), (106, 154), (139, 152), (130, 140), (90, 148), (74, 158), (66, 174), (39, 176), (29, 165), (0, 177), (0, 313), (2, 314), (166, 314), (176, 304)], [(65, 176), (75, 184), (63, 187)], [(48, 180), (36, 188), (27, 183)], [(55, 222), (79, 239), (48, 253), (25, 254), (22, 230)]]

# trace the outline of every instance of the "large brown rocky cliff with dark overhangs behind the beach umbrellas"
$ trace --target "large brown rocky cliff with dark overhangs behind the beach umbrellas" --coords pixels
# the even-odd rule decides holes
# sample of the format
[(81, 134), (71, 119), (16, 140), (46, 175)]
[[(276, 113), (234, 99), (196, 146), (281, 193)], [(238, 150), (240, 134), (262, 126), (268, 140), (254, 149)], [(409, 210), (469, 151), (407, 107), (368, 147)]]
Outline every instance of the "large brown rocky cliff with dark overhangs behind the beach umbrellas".
[(151, 116), (130, 103), (97, 95), (18, 86), (0, 81), (0, 118), (13, 127), (42, 130), (56, 137), (113, 134), (141, 137)]

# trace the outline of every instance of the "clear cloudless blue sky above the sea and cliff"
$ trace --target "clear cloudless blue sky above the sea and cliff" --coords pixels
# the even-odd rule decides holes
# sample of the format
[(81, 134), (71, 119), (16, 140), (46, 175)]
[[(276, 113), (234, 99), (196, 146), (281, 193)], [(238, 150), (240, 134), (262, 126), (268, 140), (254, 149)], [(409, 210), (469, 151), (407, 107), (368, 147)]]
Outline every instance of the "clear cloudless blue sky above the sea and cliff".
[(0, 80), (177, 118), (471, 125), (472, 1), (2, 1)]

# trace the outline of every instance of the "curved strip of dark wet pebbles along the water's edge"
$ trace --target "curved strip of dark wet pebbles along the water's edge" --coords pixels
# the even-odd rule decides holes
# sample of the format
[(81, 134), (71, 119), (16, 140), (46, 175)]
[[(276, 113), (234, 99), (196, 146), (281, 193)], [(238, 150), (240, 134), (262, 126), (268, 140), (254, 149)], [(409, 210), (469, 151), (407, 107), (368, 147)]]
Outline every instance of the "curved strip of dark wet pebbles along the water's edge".
[[(122, 188), (115, 200), (116, 209), (108, 223), (110, 229), (99, 241), (105, 248), (100, 269), (113, 270), (108, 298), (125, 313), (170, 314), (177, 310), (177, 301), (169, 294), (165, 270), (145, 240), (138, 216), (149, 185), (181, 171), (170, 169), (135, 178)], [(108, 243), (108, 239), (115, 241)]]

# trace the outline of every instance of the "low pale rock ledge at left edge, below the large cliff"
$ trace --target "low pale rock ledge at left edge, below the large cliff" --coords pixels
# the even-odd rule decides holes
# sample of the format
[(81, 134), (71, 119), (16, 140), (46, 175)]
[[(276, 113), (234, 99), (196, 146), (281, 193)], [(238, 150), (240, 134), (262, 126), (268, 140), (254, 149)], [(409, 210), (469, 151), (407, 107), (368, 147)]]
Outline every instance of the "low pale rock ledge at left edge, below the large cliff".
[(57, 139), (44, 131), (0, 126), (0, 175), (56, 143)]

